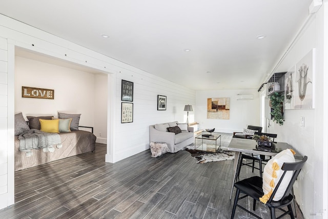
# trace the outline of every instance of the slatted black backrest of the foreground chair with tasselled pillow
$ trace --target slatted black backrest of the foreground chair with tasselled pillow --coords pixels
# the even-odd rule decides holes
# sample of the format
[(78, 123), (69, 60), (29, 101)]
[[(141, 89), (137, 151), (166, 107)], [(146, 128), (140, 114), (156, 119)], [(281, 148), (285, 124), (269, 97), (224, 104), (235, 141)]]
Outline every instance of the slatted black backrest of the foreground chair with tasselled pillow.
[(287, 171), (294, 171), (294, 174), (291, 178), (291, 181), (289, 182), (289, 185), (288, 187), (286, 188), (286, 191), (284, 193), (284, 195), (282, 196), (281, 200), (283, 200), (283, 198), (285, 198), (286, 196), (288, 196), (290, 193), (291, 193), (291, 190), (293, 188), (293, 185), (296, 181), (296, 178), (298, 176), (298, 174), (300, 173), (301, 169), (303, 168), (306, 160), (308, 160), (308, 156), (304, 156), (303, 157), (303, 160), (300, 161), (300, 162), (295, 162), (295, 163), (283, 163), (281, 169), (284, 171), (282, 173), (282, 176), (276, 186), (276, 188), (273, 190), (272, 192), (272, 195), (270, 196), (269, 200), (268, 200), (268, 203), (271, 203), (272, 200), (273, 200), (273, 197), (275, 196), (277, 190), (278, 190), (278, 187), (280, 186), (280, 183), (282, 182), (282, 179), (284, 177), (284, 175), (286, 174)]

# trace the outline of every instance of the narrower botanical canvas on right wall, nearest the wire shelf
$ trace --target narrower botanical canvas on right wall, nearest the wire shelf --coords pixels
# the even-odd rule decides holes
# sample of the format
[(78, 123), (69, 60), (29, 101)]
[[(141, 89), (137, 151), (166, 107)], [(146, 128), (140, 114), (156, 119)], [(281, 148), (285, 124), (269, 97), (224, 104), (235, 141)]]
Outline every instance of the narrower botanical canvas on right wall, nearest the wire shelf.
[(285, 109), (294, 109), (295, 104), (295, 65), (285, 73)]

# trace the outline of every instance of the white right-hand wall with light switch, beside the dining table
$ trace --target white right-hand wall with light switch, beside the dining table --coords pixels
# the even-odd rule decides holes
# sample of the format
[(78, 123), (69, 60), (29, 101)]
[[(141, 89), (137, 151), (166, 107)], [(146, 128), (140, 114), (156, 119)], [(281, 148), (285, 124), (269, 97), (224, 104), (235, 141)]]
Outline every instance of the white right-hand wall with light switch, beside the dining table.
[[(326, 4), (325, 4), (326, 5)], [(325, 6), (327, 7), (327, 6)], [(314, 72), (314, 102), (315, 109), (285, 110), (283, 126), (271, 121), (272, 126), (267, 130), (278, 134), (278, 141), (287, 142), (302, 155), (308, 156), (303, 170), (294, 185), (296, 200), (300, 205), (305, 218), (316, 217), (317, 213), (327, 212), (327, 50), (324, 43), (328, 43), (327, 36), (323, 34), (324, 14), (323, 7), (305, 25), (303, 31), (296, 39), (296, 43), (278, 66), (276, 72), (288, 71), (293, 65), (306, 55), (312, 48), (315, 52)], [(327, 20), (327, 18), (325, 18)], [(325, 25), (327, 26), (327, 22)], [(300, 127), (300, 117), (305, 118), (305, 127)]]

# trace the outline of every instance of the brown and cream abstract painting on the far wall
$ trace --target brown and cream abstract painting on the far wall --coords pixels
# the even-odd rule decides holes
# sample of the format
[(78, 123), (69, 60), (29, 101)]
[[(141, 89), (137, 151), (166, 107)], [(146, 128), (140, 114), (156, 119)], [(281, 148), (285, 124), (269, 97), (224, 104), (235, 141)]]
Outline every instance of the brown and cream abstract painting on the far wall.
[(230, 119), (230, 98), (208, 98), (207, 99), (207, 118), (215, 120)]

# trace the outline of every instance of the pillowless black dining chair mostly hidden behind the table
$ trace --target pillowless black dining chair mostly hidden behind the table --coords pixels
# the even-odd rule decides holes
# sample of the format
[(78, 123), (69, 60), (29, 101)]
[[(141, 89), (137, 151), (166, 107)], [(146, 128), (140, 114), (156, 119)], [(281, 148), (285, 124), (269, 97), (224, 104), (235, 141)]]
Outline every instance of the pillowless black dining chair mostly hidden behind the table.
[[(275, 138), (277, 137), (277, 134), (271, 134), (271, 133), (263, 133), (263, 132), (258, 132), (258, 135), (265, 135), (268, 137), (272, 138), (272, 142), (275, 143)], [(249, 159), (252, 160), (251, 163), (243, 163), (243, 159)], [(259, 170), (260, 172), (260, 177), (262, 177), (262, 164), (265, 164), (266, 162), (268, 162), (271, 159), (271, 156), (265, 156), (265, 155), (260, 155), (260, 154), (251, 154), (251, 153), (242, 153), (241, 154), (241, 162), (240, 165), (238, 167), (238, 174), (237, 176), (239, 177), (239, 173), (240, 173), (240, 169), (243, 165), (245, 166), (249, 166), (252, 167), (252, 172), (254, 172), (254, 169)], [(259, 168), (255, 167), (255, 162), (259, 163)]]

